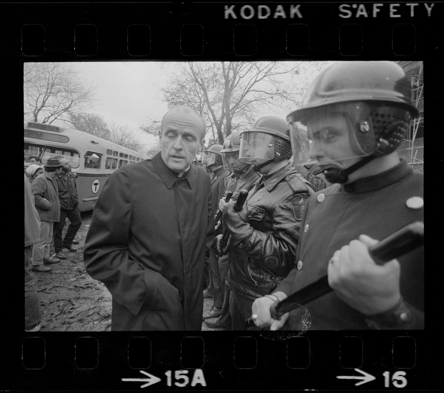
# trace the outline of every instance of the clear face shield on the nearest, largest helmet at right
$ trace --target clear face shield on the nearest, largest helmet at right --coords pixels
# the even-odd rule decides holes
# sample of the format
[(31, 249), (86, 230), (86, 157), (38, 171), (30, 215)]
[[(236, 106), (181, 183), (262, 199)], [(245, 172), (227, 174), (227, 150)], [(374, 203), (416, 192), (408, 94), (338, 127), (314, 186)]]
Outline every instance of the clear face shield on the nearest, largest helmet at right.
[(290, 113), (295, 165), (331, 163), (342, 168), (372, 154), (376, 148), (370, 111), (364, 103), (346, 103)]

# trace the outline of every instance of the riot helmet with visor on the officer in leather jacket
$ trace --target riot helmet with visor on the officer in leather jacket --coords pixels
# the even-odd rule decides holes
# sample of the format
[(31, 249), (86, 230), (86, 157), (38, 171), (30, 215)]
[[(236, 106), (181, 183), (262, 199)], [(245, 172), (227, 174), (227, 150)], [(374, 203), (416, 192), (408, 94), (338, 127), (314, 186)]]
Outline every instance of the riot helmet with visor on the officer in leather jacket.
[(250, 159), (254, 158), (260, 163), (255, 165), (255, 170), (292, 156), (290, 127), (280, 117), (261, 117), (248, 131), (243, 131), (240, 138), (239, 160), (250, 164)]

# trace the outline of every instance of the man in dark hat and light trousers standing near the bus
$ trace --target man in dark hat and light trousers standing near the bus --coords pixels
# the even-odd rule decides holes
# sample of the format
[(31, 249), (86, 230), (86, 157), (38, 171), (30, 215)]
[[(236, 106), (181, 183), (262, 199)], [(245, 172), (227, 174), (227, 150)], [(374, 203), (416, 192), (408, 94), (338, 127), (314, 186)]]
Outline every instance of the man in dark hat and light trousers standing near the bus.
[(50, 256), (49, 248), (53, 237), (53, 225), (60, 219), (59, 191), (56, 180), (62, 165), (57, 158), (50, 158), (43, 166), (45, 171), (32, 182), (34, 189), (35, 208), (40, 217), (40, 240), (32, 250), (32, 266), (34, 272), (49, 272), (52, 263), (58, 263), (59, 258)]

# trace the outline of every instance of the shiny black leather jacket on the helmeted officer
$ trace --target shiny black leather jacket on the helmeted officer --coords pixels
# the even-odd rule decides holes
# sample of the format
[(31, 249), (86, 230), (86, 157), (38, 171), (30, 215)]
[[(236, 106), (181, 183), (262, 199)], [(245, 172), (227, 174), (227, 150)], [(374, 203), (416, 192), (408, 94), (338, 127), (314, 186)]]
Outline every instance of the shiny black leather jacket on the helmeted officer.
[(249, 299), (271, 293), (293, 267), (300, 217), (311, 186), (292, 164), (262, 176), (250, 191), (248, 222), (233, 225), (226, 282)]

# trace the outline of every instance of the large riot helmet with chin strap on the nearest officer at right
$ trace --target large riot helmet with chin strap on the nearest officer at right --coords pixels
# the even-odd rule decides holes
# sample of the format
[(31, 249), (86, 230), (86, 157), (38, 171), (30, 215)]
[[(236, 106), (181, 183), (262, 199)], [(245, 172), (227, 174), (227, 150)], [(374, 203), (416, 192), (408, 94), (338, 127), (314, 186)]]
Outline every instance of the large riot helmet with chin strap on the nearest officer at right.
[[(340, 61), (327, 67), (310, 84), (301, 106), (287, 116), (292, 144), (306, 144), (306, 125), (323, 114), (345, 116), (355, 157), (343, 171), (325, 173), (327, 180), (345, 183), (348, 175), (376, 157), (392, 153), (418, 115), (411, 102), (412, 85), (404, 70), (391, 61)], [(328, 171), (326, 171), (328, 172)], [(340, 173), (333, 173), (340, 172)]]

